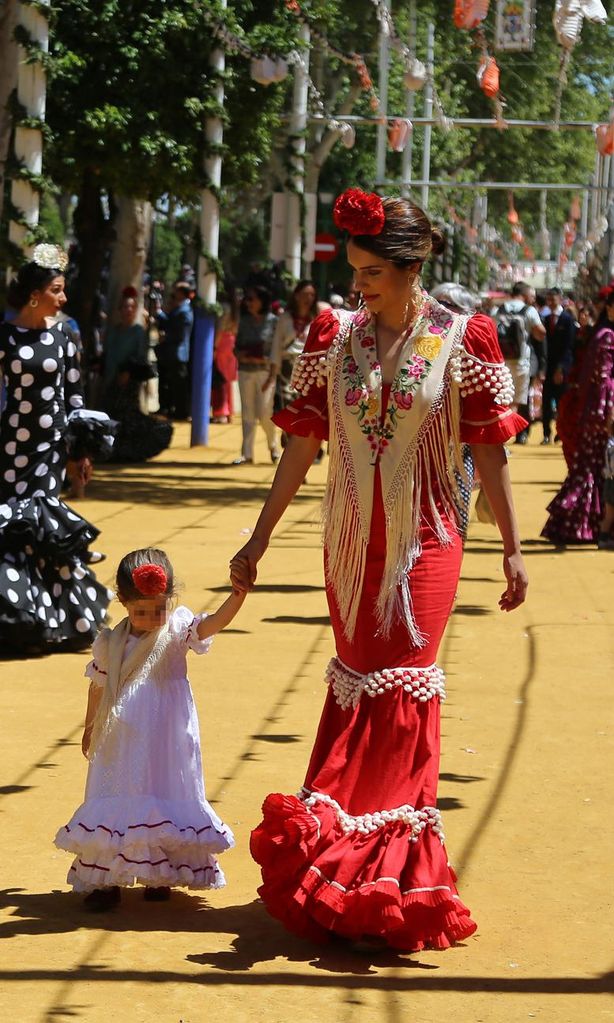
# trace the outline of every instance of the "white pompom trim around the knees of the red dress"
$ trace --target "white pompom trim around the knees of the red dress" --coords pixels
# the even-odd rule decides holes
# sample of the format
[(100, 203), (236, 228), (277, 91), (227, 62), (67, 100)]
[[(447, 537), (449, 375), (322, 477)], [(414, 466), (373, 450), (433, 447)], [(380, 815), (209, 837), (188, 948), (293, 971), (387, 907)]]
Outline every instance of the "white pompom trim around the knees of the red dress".
[(324, 681), (332, 686), (343, 710), (357, 707), (363, 693), (377, 697), (397, 688), (403, 688), (419, 703), (428, 703), (433, 697), (445, 700), (445, 675), (436, 664), (424, 668), (382, 668), (361, 675), (334, 657), (326, 667)]

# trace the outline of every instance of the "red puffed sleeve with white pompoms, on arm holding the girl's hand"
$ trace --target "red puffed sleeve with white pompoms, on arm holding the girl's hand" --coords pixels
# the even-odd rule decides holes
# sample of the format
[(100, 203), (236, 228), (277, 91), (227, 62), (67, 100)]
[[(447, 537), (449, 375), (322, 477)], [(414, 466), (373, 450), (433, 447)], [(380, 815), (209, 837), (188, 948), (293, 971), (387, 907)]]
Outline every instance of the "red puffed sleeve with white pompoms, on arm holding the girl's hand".
[(273, 422), (287, 434), (328, 439), (326, 356), (339, 327), (339, 317), (332, 309), (324, 309), (309, 328), (305, 349), (295, 361), (292, 376), (292, 386), (299, 397), (273, 415)]

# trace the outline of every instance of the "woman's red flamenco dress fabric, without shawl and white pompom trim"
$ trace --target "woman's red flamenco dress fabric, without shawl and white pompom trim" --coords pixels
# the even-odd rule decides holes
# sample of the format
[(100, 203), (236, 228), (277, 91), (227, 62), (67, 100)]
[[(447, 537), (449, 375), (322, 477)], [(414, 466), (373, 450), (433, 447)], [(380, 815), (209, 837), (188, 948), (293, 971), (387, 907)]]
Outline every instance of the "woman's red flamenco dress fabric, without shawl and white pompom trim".
[[(327, 347), (338, 325), (331, 313), (318, 316), (306, 351)], [(502, 362), (492, 321), (484, 316), (470, 321), (465, 345), (486, 362)], [(389, 391), (384, 387), (383, 409)], [(463, 405), (463, 439), (501, 443), (521, 429), (519, 420), (486, 391), (474, 393)], [(290, 434), (325, 439), (326, 388), (313, 387), (275, 421)], [(401, 620), (388, 637), (377, 634), (375, 604), (386, 555), (378, 466), (374, 486), (366, 574), (351, 641), (326, 585), (337, 656), (360, 675), (434, 664), (463, 552), (454, 524), (451, 542), (442, 546), (423, 506), (422, 554), (410, 579), (427, 646), (412, 648)], [(375, 935), (405, 949), (446, 948), (476, 930), (456, 892), (434, 809), (439, 721), (438, 696), (421, 702), (402, 685), (391, 685), (372, 699), (363, 693), (355, 707), (344, 709), (328, 687), (302, 798), (269, 796), (252, 835), (252, 854), (262, 869), (259, 893), (289, 930), (316, 940), (331, 931), (348, 938)], [(416, 830), (410, 812), (425, 807), (428, 819)]]

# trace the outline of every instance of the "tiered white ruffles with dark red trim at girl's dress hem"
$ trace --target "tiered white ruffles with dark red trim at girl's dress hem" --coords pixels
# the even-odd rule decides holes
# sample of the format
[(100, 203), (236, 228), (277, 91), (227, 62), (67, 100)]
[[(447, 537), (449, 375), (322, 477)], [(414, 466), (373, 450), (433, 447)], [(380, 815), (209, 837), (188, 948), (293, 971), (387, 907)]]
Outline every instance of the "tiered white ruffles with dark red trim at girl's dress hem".
[(205, 889), (225, 885), (216, 857), (234, 837), (207, 801), (114, 797), (82, 803), (55, 845), (75, 855), (68, 876), (75, 891), (135, 883)]

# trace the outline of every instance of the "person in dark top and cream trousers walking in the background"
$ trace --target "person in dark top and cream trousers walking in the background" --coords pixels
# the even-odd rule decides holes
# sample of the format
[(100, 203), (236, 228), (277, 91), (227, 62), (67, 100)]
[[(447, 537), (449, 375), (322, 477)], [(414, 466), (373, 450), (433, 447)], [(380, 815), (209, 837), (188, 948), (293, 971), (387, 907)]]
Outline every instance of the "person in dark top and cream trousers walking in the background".
[(275, 373), (271, 372), (270, 351), (276, 317), (270, 310), (270, 293), (254, 284), (246, 294), (246, 312), (240, 316), (234, 352), (238, 359), (238, 391), (243, 444), (234, 465), (252, 464), (256, 424), (264, 430), (271, 461), (279, 460), (277, 428), (271, 419)]

